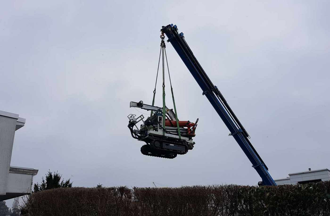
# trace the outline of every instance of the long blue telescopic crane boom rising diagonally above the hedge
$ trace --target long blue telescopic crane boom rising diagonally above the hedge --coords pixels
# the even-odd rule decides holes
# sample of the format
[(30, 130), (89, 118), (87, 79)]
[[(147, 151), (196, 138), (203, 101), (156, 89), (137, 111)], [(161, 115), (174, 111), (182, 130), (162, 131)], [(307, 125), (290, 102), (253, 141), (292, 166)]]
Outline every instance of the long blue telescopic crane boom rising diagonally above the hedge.
[(237, 141), (243, 152), (252, 163), (252, 167), (260, 175), (262, 184), (276, 185), (272, 176), (268, 172), (268, 167), (262, 161), (257, 151), (248, 140), (248, 132), (245, 130), (234, 112), (231, 110), (221, 92), (215, 85), (213, 85), (210, 78), (203, 70), (202, 66), (198, 63), (196, 57), (186, 43), (183, 33), (181, 32), (179, 34), (177, 26), (173, 24), (162, 26), (161, 32), (167, 36), (167, 42), (172, 44), (184, 64), (187, 66), (191, 75), (195, 78), (196, 82), (201, 87), (203, 95), (207, 97), (215, 111), (228, 127), (230, 131), (229, 135), (234, 137), (234, 139)]

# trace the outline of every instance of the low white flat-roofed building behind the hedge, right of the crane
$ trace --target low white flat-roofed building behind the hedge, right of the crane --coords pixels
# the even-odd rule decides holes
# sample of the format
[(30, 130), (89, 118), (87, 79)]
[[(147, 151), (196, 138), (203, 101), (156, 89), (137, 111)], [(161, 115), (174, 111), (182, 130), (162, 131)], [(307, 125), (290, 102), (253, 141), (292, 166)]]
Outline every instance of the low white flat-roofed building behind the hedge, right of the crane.
[(295, 185), (329, 180), (329, 169), (311, 170), (311, 168), (304, 172), (289, 173), (289, 177), (286, 178), (274, 179), (277, 185)]

